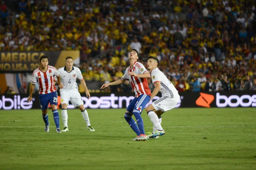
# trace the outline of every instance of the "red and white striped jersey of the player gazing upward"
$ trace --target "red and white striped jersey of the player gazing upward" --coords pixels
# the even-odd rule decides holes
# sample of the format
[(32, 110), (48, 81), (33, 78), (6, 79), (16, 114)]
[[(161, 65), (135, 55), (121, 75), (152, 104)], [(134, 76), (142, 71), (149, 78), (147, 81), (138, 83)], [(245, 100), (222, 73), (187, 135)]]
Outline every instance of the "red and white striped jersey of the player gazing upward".
[(144, 65), (140, 62), (135, 62), (134, 66), (131, 65), (126, 68), (125, 74), (121, 78), (122, 80), (129, 80), (131, 82), (131, 86), (134, 89), (135, 97), (139, 97), (142, 94), (147, 94), (151, 96), (151, 91), (148, 88), (148, 79), (130, 76), (128, 73), (133, 71), (135, 74), (145, 74), (148, 71), (145, 69)]

